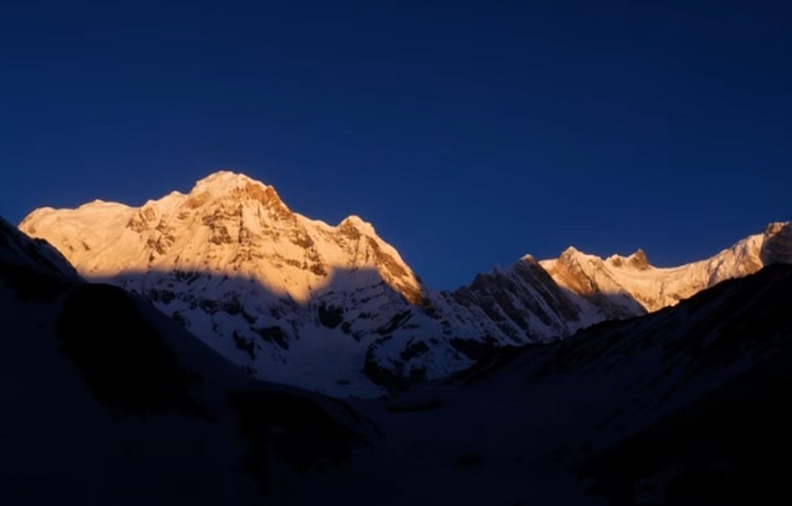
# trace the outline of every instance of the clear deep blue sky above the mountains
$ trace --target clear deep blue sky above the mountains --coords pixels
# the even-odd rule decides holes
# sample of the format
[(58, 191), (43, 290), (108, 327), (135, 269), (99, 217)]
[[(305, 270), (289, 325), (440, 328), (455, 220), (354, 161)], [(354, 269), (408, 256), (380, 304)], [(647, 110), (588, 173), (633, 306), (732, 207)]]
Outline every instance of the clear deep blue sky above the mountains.
[(230, 168), (435, 287), (686, 262), (792, 219), (789, 3), (6, 1), (0, 215)]

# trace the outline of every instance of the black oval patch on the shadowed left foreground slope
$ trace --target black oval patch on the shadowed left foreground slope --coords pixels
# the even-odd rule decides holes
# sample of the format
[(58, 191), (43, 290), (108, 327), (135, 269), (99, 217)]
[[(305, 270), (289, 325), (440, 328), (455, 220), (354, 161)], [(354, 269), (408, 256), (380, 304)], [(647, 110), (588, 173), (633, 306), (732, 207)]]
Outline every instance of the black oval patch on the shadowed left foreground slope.
[(189, 393), (202, 382), (185, 371), (130, 294), (80, 285), (65, 298), (55, 331), (94, 397), (108, 409), (143, 416), (179, 410), (211, 420)]

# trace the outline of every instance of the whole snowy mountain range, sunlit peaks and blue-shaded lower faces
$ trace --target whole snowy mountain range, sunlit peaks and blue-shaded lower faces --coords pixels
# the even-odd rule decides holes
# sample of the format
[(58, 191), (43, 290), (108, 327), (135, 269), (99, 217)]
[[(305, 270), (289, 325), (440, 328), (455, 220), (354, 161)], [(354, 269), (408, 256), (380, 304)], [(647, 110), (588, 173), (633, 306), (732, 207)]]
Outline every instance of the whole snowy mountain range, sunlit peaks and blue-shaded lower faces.
[(570, 249), (439, 292), (370, 223), (311, 220), (230, 172), (140, 208), (44, 208), (20, 224), (86, 278), (143, 296), (251, 374), (342, 396), (441, 377), (495, 348), (558, 340), (788, 262), (790, 227), (773, 227), (678, 270)]

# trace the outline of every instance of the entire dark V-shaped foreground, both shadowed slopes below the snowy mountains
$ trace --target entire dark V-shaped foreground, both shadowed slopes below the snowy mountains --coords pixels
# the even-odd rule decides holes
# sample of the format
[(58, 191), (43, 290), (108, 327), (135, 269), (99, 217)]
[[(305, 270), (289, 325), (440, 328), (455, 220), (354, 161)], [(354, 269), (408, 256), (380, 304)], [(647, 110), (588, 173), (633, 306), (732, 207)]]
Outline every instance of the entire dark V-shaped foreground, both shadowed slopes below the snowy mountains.
[[(763, 262), (789, 248), (771, 229)], [(32, 504), (787, 504), (791, 297), (792, 266), (768, 265), (340, 402), (252, 378), (0, 219), (0, 485)]]

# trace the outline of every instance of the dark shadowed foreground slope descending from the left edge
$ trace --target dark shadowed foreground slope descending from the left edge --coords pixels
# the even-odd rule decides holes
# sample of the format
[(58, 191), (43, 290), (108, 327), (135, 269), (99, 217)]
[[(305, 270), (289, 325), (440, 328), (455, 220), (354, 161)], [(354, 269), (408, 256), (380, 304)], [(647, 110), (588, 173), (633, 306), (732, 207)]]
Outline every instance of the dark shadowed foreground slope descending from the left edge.
[[(0, 218), (6, 503), (284, 504), (380, 438), (348, 405), (255, 382), (147, 302)], [(314, 471), (312, 471), (314, 470)]]

